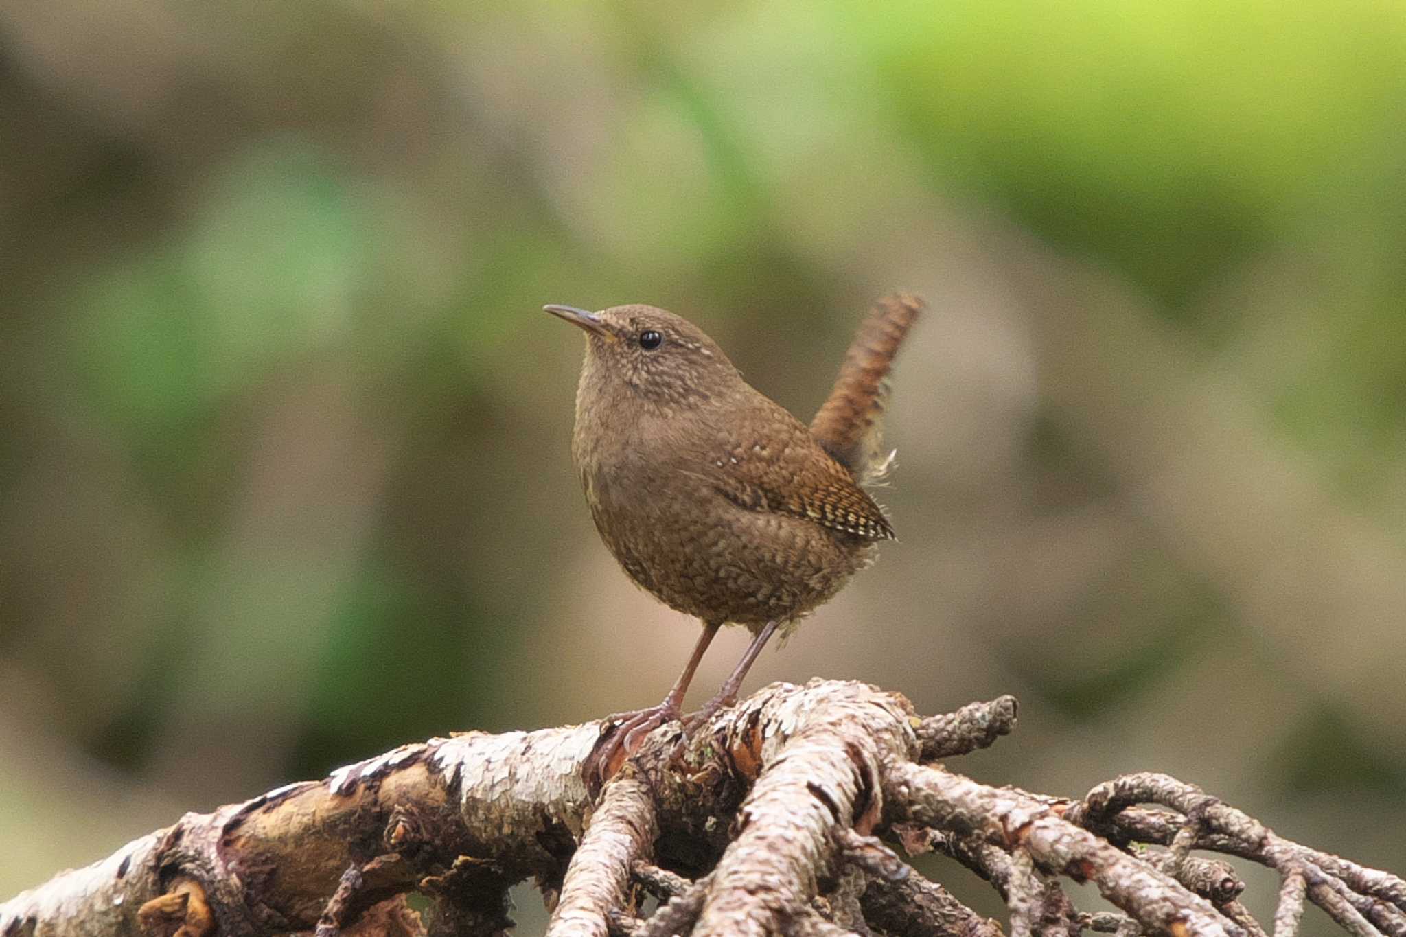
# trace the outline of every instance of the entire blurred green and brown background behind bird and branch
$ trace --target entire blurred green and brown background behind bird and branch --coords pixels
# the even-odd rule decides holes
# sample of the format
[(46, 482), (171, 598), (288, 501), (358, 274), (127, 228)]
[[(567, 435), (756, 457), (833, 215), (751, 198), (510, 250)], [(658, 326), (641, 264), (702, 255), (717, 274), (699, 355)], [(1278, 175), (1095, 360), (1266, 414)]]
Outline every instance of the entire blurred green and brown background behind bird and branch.
[(1014, 693), (983, 780), (1402, 871), (1403, 115), (1385, 0), (6, 3), (0, 898), (654, 702), (696, 625), (591, 527), (538, 308), (808, 417), (891, 288), (901, 539), (749, 688)]

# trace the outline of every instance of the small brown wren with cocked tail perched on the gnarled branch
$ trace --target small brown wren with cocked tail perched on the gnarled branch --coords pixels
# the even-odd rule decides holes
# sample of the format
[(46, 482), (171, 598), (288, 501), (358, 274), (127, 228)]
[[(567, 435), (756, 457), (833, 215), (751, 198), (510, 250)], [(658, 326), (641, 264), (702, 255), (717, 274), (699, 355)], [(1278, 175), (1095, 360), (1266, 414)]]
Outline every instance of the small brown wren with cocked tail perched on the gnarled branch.
[(703, 621), (664, 701), (613, 718), (589, 768), (603, 780), (645, 733), (679, 716), (718, 628), (745, 625), (754, 638), (699, 719), (735, 701), (778, 629), (839, 591), (893, 538), (860, 485), (889, 468), (886, 378), (922, 302), (894, 295), (875, 306), (808, 428), (671, 312), (544, 309), (586, 333), (571, 452), (600, 538), (636, 583)]

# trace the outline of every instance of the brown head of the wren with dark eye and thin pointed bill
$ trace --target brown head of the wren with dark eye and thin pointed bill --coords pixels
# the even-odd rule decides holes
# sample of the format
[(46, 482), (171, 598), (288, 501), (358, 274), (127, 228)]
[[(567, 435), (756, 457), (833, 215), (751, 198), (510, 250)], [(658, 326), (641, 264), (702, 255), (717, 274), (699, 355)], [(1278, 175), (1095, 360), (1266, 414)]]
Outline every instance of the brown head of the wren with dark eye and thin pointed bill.
[(665, 409), (689, 409), (742, 381), (716, 341), (672, 312), (640, 303), (600, 312), (543, 309), (586, 333), (582, 393), (630, 395)]

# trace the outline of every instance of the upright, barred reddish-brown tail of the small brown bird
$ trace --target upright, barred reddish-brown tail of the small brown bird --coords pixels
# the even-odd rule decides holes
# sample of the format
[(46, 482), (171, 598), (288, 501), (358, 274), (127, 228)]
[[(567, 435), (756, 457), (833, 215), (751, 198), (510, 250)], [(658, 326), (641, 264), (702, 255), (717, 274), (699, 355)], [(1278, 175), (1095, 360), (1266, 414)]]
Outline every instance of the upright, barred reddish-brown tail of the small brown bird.
[(810, 421), (811, 435), (859, 482), (876, 480), (889, 468), (883, 452), (889, 369), (922, 309), (922, 299), (901, 292), (875, 303), (849, 343), (835, 386)]

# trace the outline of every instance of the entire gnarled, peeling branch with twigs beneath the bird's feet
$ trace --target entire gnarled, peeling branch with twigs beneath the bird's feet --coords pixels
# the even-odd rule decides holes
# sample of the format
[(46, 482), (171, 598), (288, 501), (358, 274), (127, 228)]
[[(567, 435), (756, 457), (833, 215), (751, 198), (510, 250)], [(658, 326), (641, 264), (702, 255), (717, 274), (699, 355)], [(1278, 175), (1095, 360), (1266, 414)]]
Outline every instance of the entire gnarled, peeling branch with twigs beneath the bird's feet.
[[(1306, 900), (1347, 933), (1406, 937), (1399, 877), (1195, 785), (1133, 774), (1073, 801), (932, 764), (1014, 725), (1010, 697), (918, 718), (863, 684), (773, 684), (688, 738), (661, 726), (598, 795), (583, 770), (599, 722), (432, 739), (187, 813), (4, 902), (0, 937), (495, 937), (524, 879), (551, 937), (1002, 933), (890, 844), (987, 879), (1008, 933), (1261, 937), (1234, 867), (1191, 854), (1211, 850), (1279, 871), (1275, 937), (1298, 933)], [(1067, 881), (1122, 913), (1080, 910)], [(412, 892), (432, 902), (423, 917)]]

